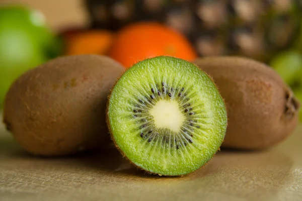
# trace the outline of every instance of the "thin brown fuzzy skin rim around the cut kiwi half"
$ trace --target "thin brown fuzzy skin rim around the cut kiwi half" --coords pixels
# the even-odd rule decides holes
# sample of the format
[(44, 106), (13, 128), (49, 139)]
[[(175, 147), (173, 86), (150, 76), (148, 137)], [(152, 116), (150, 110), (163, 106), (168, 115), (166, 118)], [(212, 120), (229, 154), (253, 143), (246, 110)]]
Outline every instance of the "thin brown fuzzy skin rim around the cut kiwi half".
[[(195, 66), (198, 67), (196, 64), (195, 64)], [(126, 72), (127, 70), (129, 70), (129, 69), (130, 69), (130, 68), (126, 69), (125, 72)], [(124, 72), (124, 73), (125, 73), (125, 72)], [(124, 74), (124, 73), (123, 73), (123, 74)], [(206, 75), (214, 82), (213, 78), (212, 78), (209, 74), (207, 74), (206, 72), (205, 72), (205, 74), (206, 74)], [(122, 76), (122, 75), (121, 75), (121, 76)], [(121, 153), (122, 157), (124, 157), (124, 158), (125, 158), (131, 165), (133, 165), (135, 168), (144, 171), (144, 173), (147, 174), (147, 175), (158, 175), (158, 176), (166, 176), (166, 177), (182, 177), (182, 176), (190, 175), (190, 174), (194, 173), (195, 171), (199, 170), (199, 169), (196, 169), (195, 171), (190, 172), (190, 173), (188, 173), (188, 174), (186, 174), (186, 175), (163, 175), (163, 174), (158, 174), (158, 173), (150, 172), (150, 171), (148, 171), (148, 170), (145, 170), (145, 169), (141, 168), (140, 166), (136, 165), (135, 163), (133, 163), (133, 162), (125, 155), (125, 153), (119, 148), (118, 144), (117, 144), (116, 141), (115, 141), (115, 138), (113, 137), (113, 133), (112, 133), (111, 126), (110, 126), (110, 120), (109, 120), (109, 102), (110, 102), (110, 97), (111, 97), (112, 90), (113, 90), (113, 88), (115, 87), (115, 85), (116, 85), (116, 83), (118, 82), (118, 80), (121, 78), (121, 76), (118, 77), (118, 78), (116, 79), (116, 81), (115, 81), (115, 83), (114, 83), (112, 89), (110, 90), (110, 94), (108, 95), (107, 106), (106, 106), (106, 124), (107, 124), (107, 128), (108, 128), (108, 130), (109, 130), (109, 132), (110, 132), (111, 140), (113, 141), (114, 146), (116, 147), (116, 149)], [(215, 84), (215, 83), (214, 83), (214, 84)], [(216, 86), (216, 85), (215, 85), (215, 86)], [(217, 86), (216, 86), (216, 88), (217, 88)], [(224, 99), (223, 99), (223, 102), (224, 102)], [(224, 103), (225, 103), (225, 102), (224, 102)], [(225, 108), (225, 109), (227, 110), (228, 108)], [(221, 145), (220, 145), (220, 146), (221, 146)], [(218, 153), (219, 151), (220, 151), (220, 147), (217, 149), (216, 153)], [(214, 154), (214, 155), (215, 155), (215, 154)], [(214, 157), (214, 155), (213, 155), (213, 157)], [(213, 158), (213, 157), (212, 157), (212, 158)], [(212, 158), (211, 158), (211, 159), (212, 159)], [(205, 167), (205, 166), (211, 161), (211, 159), (210, 159), (209, 161), (207, 161), (202, 167)], [(201, 168), (201, 167), (200, 167), (200, 168)]]

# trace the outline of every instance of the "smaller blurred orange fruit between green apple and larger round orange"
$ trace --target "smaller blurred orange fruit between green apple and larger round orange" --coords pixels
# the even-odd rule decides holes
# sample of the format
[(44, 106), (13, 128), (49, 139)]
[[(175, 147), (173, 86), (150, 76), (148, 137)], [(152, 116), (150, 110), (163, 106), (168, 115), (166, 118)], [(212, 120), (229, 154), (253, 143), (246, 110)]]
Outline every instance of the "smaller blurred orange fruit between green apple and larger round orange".
[(113, 34), (105, 30), (72, 33), (65, 37), (65, 55), (106, 54), (113, 40)]

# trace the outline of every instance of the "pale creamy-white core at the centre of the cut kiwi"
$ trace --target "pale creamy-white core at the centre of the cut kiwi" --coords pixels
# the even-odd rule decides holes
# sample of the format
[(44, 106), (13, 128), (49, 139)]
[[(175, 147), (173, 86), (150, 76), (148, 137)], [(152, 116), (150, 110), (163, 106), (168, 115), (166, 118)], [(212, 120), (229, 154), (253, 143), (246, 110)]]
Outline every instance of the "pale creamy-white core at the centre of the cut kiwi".
[(149, 110), (153, 116), (155, 126), (163, 129), (170, 129), (179, 132), (185, 120), (184, 115), (179, 110), (179, 104), (173, 100), (159, 100), (156, 105)]

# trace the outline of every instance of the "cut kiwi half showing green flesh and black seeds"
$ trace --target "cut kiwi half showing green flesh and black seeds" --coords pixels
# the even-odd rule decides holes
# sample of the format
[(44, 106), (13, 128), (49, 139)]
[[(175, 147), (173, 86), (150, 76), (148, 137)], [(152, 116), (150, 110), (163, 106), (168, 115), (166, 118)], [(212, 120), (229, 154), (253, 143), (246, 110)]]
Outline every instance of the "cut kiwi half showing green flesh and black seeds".
[(211, 78), (175, 57), (134, 64), (108, 100), (107, 125), (116, 147), (149, 173), (197, 170), (219, 149), (226, 124), (225, 105)]

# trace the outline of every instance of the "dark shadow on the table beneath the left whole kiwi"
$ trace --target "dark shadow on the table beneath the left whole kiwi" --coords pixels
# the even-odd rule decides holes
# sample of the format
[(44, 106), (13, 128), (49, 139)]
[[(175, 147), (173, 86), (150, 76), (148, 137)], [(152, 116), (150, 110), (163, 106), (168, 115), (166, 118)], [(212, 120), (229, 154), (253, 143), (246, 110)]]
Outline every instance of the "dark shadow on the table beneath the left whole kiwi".
[(22, 161), (27, 164), (41, 164), (41, 168), (47, 169), (66, 167), (68, 169), (79, 168), (99, 174), (132, 175), (141, 178), (159, 178), (157, 175), (148, 174), (138, 169), (110, 145), (104, 149), (89, 150), (82, 153), (60, 157), (43, 157), (32, 155), (24, 151), (12, 136), (0, 135), (0, 159)]

